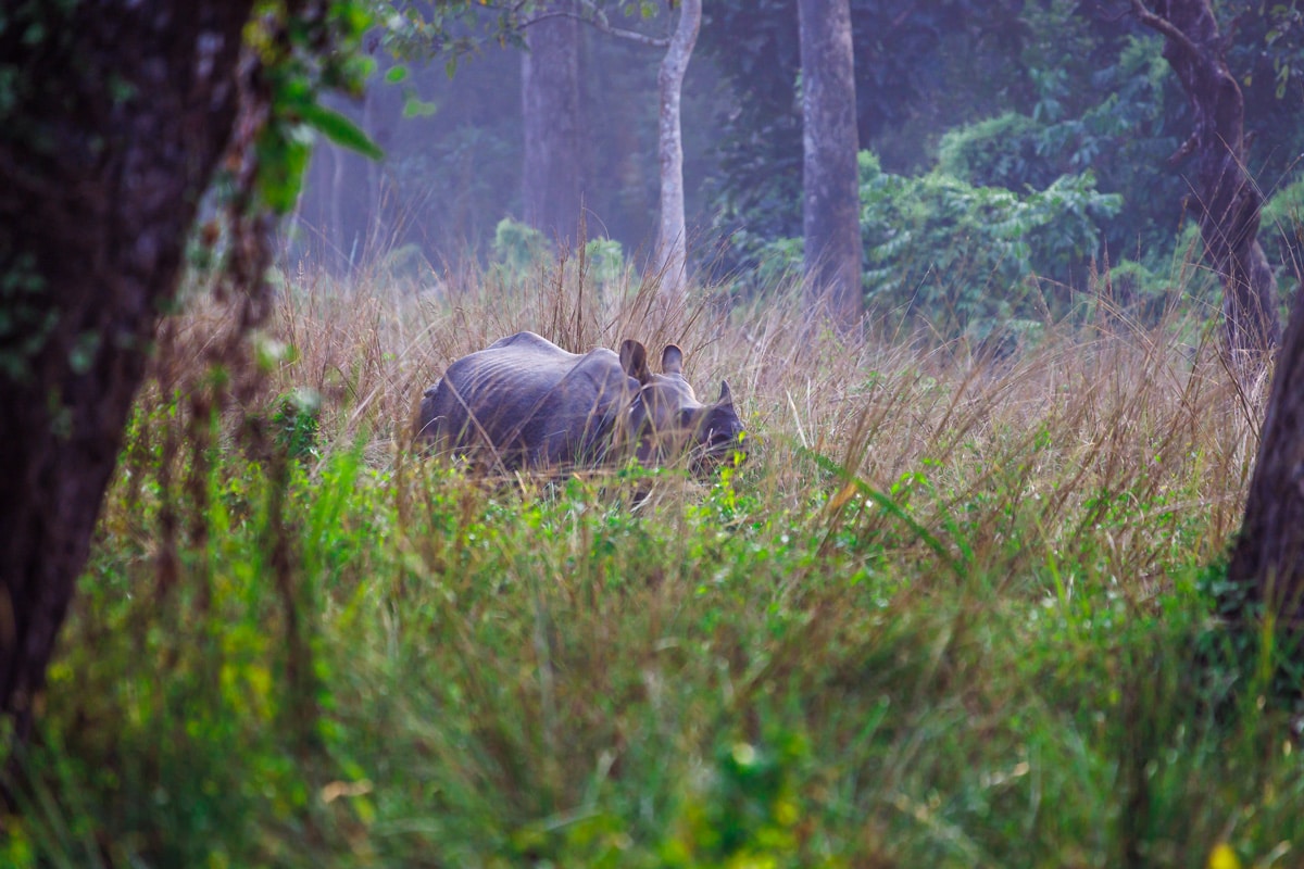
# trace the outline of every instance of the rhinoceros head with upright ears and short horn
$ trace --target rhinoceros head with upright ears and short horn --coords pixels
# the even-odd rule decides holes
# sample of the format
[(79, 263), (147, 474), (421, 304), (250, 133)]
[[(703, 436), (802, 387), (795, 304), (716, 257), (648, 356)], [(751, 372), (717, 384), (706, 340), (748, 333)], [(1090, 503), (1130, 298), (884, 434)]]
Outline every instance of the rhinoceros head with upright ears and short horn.
[(683, 350), (669, 344), (661, 353), (661, 373), (647, 363), (647, 349), (639, 341), (621, 344), (621, 367), (638, 380), (638, 395), (630, 408), (630, 430), (636, 438), (636, 455), (644, 466), (687, 455), (696, 468), (709, 468), (742, 453), (743, 429), (734, 412), (726, 382), (720, 383), (720, 399), (702, 404), (683, 379)]

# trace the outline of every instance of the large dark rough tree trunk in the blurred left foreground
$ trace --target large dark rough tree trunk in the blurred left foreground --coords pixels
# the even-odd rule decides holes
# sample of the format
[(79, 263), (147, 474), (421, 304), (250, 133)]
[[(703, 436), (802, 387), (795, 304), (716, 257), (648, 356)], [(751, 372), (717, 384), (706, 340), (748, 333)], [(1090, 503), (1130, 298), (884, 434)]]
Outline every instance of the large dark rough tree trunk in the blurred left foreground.
[(63, 5), (0, 30), (18, 72), (0, 113), (0, 713), (20, 736), (231, 137), (253, 0)]

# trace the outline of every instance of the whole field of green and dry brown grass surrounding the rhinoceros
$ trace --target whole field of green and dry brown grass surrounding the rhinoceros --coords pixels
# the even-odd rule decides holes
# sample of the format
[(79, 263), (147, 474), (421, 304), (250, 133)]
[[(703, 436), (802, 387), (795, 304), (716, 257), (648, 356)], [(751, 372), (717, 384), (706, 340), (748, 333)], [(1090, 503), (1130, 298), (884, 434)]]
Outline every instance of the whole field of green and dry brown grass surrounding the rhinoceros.
[[(1208, 326), (996, 360), (582, 271), (297, 275), (257, 379), (194, 350), (220, 311), (176, 323), (0, 861), (1299, 861), (1271, 645), (1215, 619), (1261, 397)], [(673, 339), (759, 447), (705, 482), (412, 455), (421, 390), (520, 328)]]

